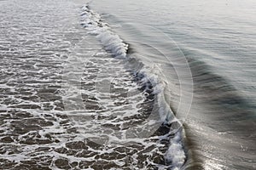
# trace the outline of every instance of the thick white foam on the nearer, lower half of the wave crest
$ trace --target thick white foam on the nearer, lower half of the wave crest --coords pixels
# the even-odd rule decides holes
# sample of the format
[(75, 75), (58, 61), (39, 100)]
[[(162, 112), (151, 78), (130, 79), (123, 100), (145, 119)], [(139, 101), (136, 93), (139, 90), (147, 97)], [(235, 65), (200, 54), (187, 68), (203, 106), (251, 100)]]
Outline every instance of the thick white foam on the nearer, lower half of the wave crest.
[[(152, 71), (150, 71), (152, 70)], [(166, 103), (165, 96), (163, 89), (166, 88), (166, 83), (161, 81), (159, 78), (160, 72), (159, 70), (152, 67), (151, 69), (143, 70), (143, 83), (151, 82), (152, 86), (154, 87), (154, 94), (157, 95), (158, 105), (159, 105), (159, 114), (161, 120), (166, 124), (174, 123), (181, 123), (177, 120), (174, 116), (172, 110), (170, 109), (169, 105)], [(148, 76), (150, 75), (150, 76)], [(178, 170), (183, 167), (183, 164), (186, 159), (185, 152), (183, 150), (183, 138), (182, 138), (182, 130), (181, 128), (171, 129), (168, 134), (175, 134), (174, 137), (170, 139), (169, 148), (166, 151), (165, 159), (167, 162), (171, 162), (170, 167), (172, 170)], [(168, 138), (168, 134), (163, 136), (164, 139)], [(166, 169), (166, 167), (158, 166), (159, 169)]]

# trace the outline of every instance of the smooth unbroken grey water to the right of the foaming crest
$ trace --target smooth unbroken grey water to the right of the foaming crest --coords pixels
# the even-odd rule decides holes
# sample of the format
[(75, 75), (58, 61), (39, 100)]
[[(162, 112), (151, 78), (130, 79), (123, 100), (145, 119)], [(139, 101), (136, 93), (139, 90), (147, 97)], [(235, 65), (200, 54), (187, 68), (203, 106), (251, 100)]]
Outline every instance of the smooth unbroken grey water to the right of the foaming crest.
[[(106, 15), (142, 60), (151, 60), (148, 65), (160, 64), (171, 87), (171, 94), (166, 93), (170, 106), (185, 119), (191, 159), (184, 168), (255, 168), (254, 1), (96, 1), (91, 7)], [(172, 54), (177, 48), (180, 54)], [(168, 60), (163, 54), (169, 54)], [(185, 118), (173, 101), (182, 97), (172, 98), (178, 57), (189, 62), (193, 77), (193, 101)], [(185, 70), (181, 74), (189, 75)], [(191, 95), (188, 87), (182, 87), (183, 95)], [(190, 104), (189, 99), (183, 102)]]

